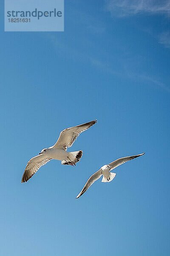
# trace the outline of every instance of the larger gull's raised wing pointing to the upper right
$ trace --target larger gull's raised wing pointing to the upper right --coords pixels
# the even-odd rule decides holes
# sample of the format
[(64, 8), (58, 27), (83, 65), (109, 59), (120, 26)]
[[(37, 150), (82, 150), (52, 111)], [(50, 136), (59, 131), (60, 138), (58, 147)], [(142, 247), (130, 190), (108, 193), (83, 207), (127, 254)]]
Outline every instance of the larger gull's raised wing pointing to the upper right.
[(73, 145), (74, 141), (77, 139), (77, 137), (79, 137), (79, 135), (83, 131), (86, 131), (88, 128), (90, 128), (92, 125), (94, 125), (96, 122), (97, 122), (97, 120), (93, 120), (91, 122), (87, 122), (85, 124), (77, 125), (77, 126), (63, 130), (60, 133), (59, 138), (53, 147), (67, 150), (67, 148), (70, 148)]

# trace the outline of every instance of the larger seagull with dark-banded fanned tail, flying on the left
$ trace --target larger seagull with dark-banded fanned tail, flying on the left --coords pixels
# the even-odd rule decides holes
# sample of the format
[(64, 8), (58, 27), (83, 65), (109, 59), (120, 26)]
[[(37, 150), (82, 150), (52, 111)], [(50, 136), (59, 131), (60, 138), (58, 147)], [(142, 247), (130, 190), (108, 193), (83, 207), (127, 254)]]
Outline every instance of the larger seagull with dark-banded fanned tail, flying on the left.
[(93, 120), (91, 122), (63, 130), (54, 146), (42, 149), (39, 155), (28, 161), (21, 183), (27, 182), (41, 166), (45, 165), (45, 163), (48, 163), (52, 159), (60, 160), (62, 164), (75, 166), (82, 157), (82, 150), (67, 152), (67, 148), (70, 148), (73, 145), (79, 134), (86, 131), (96, 122), (97, 120)]

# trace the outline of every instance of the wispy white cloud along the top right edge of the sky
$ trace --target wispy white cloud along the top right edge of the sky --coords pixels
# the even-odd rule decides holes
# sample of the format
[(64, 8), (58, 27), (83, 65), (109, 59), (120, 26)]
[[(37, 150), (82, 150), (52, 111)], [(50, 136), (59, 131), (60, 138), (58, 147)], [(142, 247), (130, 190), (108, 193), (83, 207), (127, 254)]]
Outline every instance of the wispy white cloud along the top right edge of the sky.
[(123, 17), (139, 13), (170, 15), (170, 0), (105, 0), (112, 15)]

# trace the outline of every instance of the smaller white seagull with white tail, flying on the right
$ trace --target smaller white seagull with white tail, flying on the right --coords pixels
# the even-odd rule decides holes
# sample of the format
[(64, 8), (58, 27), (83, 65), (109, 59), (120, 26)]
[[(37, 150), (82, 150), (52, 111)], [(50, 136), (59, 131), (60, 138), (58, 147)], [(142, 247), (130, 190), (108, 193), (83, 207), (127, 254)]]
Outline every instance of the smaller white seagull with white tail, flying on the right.
[(82, 189), (82, 191), (79, 193), (79, 195), (77, 195), (76, 198), (79, 198), (82, 194), (84, 194), (86, 192), (86, 190), (88, 190), (88, 188), (96, 181), (98, 180), (102, 175), (102, 182), (110, 182), (111, 180), (114, 179), (114, 177), (116, 176), (116, 173), (114, 172), (110, 172), (111, 170), (115, 169), (116, 167), (118, 167), (119, 165), (126, 163), (129, 160), (132, 160), (136, 157), (140, 157), (142, 155), (144, 155), (145, 153), (142, 154), (138, 154), (135, 156), (131, 156), (131, 157), (122, 157), (119, 158), (115, 161), (113, 161), (112, 163), (106, 164), (104, 166), (102, 166), (102, 168), (99, 169), (99, 171), (95, 172), (93, 175), (91, 175), (91, 177), (88, 179), (88, 181), (85, 183), (84, 188)]

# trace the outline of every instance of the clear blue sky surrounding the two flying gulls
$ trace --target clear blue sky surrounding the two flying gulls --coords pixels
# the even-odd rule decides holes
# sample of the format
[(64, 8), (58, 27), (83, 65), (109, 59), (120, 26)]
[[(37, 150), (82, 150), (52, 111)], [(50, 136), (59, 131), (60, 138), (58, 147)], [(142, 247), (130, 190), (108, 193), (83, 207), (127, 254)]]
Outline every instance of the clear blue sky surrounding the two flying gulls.
[[(120, 2), (65, 0), (65, 32), (4, 32), (1, 1), (2, 256), (170, 253), (170, 1)], [(21, 184), (60, 131), (95, 118), (69, 149), (76, 167), (51, 161)]]

